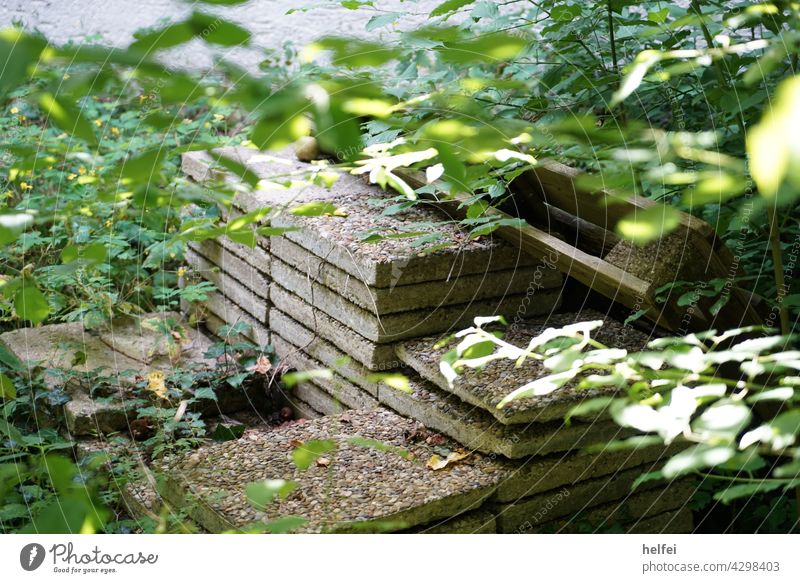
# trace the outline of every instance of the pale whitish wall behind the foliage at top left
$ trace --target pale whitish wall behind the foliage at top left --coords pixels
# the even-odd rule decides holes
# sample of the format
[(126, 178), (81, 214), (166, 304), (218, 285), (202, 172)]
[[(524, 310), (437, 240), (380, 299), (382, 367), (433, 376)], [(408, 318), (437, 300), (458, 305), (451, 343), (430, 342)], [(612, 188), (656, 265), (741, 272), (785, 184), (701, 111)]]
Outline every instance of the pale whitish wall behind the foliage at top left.
[[(422, 14), (440, 4), (442, 0), (376, 0), (376, 7), (387, 11), (410, 11), (417, 18), (403, 21), (403, 26), (414, 26)], [(341, 6), (314, 8), (307, 12), (286, 14), (290, 9), (321, 6), (314, 0), (251, 0), (240, 5), (219, 9), (208, 4), (182, 0), (0, 0), (0, 27), (21, 22), (26, 27), (38, 29), (55, 42), (100, 39), (104, 44), (125, 46), (133, 33), (143, 27), (157, 25), (163, 20), (179, 20), (192, 10), (217, 12), (225, 18), (248, 28), (254, 34), (255, 44), (262, 48), (280, 48), (285, 41), (302, 46), (325, 34), (359, 36), (386, 36), (389, 29), (366, 33), (364, 26), (375, 12), (348, 10)], [(240, 64), (253, 66), (261, 60), (257, 50), (214, 49), (217, 54), (235, 58)], [(196, 42), (171, 53), (173, 64), (206, 67), (212, 51)]]

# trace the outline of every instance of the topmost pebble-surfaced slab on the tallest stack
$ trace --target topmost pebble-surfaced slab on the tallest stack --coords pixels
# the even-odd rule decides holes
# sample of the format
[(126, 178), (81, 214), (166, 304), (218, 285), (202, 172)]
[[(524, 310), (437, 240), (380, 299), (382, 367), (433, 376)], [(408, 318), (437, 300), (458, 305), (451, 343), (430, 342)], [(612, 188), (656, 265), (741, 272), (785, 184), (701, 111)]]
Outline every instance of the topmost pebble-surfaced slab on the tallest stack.
[[(272, 220), (275, 226), (298, 226), (286, 234), (293, 242), (325, 258), (367, 285), (388, 288), (421, 281), (436, 281), (492, 270), (516, 269), (541, 263), (538, 258), (523, 254), (500, 239), (469, 235), (446, 216), (429, 205), (417, 205), (401, 213), (384, 215), (394, 204), (392, 196), (360, 178), (340, 173), (330, 189), (322, 187), (290, 187), (268, 189), (271, 176), (314, 169), (311, 164), (292, 158), (261, 154), (247, 148), (224, 149), (226, 154), (243, 160), (264, 180), (255, 192), (237, 195), (234, 204), (241, 210), (272, 207), (283, 208), (314, 200), (335, 204), (344, 216), (298, 217), (283, 213)], [(209, 158), (199, 152), (183, 156), (184, 172), (198, 181), (211, 176)], [(285, 176), (279, 180), (285, 181)], [(274, 186), (274, 184), (273, 184)], [(403, 235), (410, 232), (440, 233), (441, 237), (427, 245), (415, 244), (415, 237), (393, 236), (375, 243), (363, 238), (373, 229), (383, 234)], [(446, 249), (432, 250), (447, 243)]]

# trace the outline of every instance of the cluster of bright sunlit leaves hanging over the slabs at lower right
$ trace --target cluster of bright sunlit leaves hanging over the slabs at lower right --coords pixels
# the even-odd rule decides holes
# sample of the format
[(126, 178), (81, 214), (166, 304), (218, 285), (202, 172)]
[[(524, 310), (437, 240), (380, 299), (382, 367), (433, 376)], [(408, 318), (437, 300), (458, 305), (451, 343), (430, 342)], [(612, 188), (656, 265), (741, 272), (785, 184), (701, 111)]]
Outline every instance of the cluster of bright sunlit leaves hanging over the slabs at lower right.
[[(512, 360), (517, 366), (541, 362), (548, 371), (511, 391), (498, 408), (568, 384), (615, 391), (614, 396), (587, 399), (567, 419), (605, 412), (621, 427), (646, 437), (687, 444), (669, 458), (660, 475), (674, 479), (714, 472), (727, 480), (714, 493), (724, 503), (800, 485), (795, 339), (767, 336), (768, 331), (752, 327), (721, 334), (711, 330), (659, 338), (646, 351), (628, 353), (592, 338), (600, 321), (549, 328), (525, 347), (504, 341), (484, 325), (476, 321), (458, 334), (458, 345), (441, 364), (448, 379), (496, 360)], [(735, 373), (723, 373), (734, 366)], [(615, 447), (639, 445), (639, 440), (628, 440)]]

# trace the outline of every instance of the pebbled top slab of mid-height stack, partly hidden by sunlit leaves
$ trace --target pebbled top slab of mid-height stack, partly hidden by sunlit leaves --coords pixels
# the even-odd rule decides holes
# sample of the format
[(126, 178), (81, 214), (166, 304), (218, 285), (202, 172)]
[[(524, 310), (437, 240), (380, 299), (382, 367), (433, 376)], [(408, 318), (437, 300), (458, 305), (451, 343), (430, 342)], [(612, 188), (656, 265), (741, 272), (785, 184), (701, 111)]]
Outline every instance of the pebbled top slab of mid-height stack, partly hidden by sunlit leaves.
[[(560, 327), (584, 320), (605, 321), (603, 327), (595, 331), (593, 338), (607, 346), (635, 351), (644, 348), (647, 343), (648, 338), (644, 334), (626, 328), (620, 322), (594, 310), (585, 310), (580, 314), (553, 314), (548, 318), (527, 320), (511, 327), (504, 335), (504, 339), (516, 346), (526, 346), (532, 337), (545, 328)], [(571, 383), (549, 395), (517, 399), (503, 409), (497, 409), (497, 404), (514, 389), (545, 376), (547, 370), (544, 366), (537, 361), (529, 360), (524, 366), (516, 368), (514, 361), (498, 360), (482, 370), (465, 369), (451, 388), (439, 372), (439, 362), (452, 345), (435, 350), (433, 346), (437, 340), (435, 337), (411, 340), (398, 344), (395, 348), (401, 360), (414, 368), (423, 378), (468, 403), (485, 409), (502, 423), (544, 422), (558, 419), (580, 401), (609, 392), (579, 390), (575, 383)]]

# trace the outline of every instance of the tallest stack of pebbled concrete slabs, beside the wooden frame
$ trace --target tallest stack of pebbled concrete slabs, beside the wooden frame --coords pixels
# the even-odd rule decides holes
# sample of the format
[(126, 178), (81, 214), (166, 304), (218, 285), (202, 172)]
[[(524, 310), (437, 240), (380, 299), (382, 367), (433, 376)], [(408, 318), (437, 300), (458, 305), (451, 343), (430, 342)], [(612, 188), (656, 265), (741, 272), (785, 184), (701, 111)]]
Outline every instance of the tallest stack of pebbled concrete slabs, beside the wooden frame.
[[(212, 260), (195, 246), (189, 263), (221, 290), (208, 306), (213, 319), (230, 323), (224, 306), (228, 314), (257, 316), (288, 366), (337, 369), (297, 387), (298, 408), (330, 414), (377, 406), (369, 377), (400, 366), (398, 342), (457, 330), (486, 314), (548, 314), (560, 303), (558, 271), (503, 241), (471, 238), (433, 208), (398, 210), (390, 195), (349, 174), (330, 189), (303, 187), (295, 173), (314, 172), (313, 165), (246, 148), (221, 154), (262, 178), (262, 189), (234, 198), (233, 212), (269, 207), (271, 226), (295, 230), (262, 237), (269, 257), (249, 264), (270, 282), (268, 294), (257, 293), (261, 282), (248, 286), (253, 276), (244, 266), (225, 268), (221, 254)], [(205, 153), (184, 155), (183, 168), (200, 181), (216, 176)], [(327, 212), (307, 216), (309, 203)]]

